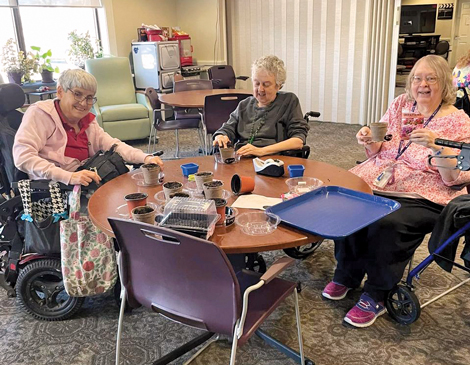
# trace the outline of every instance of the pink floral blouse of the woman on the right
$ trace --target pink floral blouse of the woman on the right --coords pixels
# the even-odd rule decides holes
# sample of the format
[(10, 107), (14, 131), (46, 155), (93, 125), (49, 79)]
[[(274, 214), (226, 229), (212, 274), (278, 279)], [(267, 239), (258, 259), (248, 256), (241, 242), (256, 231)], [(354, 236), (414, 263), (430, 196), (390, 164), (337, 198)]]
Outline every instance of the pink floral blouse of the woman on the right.
[[(389, 142), (383, 142), (382, 148), (376, 155), (355, 166), (350, 171), (361, 177), (369, 186), (377, 191), (416, 193), (434, 203), (445, 205), (453, 198), (467, 193), (466, 189), (456, 191), (449, 186), (470, 182), (470, 171), (460, 171), (456, 180), (444, 182), (436, 168), (428, 165), (431, 149), (412, 143), (398, 161), (395, 161), (401, 132), (401, 110), (411, 109), (413, 102), (407, 95), (398, 96), (390, 105), (380, 122), (388, 123), (387, 134), (393, 136)], [(453, 141), (470, 142), (470, 118), (463, 110), (440, 118), (433, 118), (426, 126), (436, 132), (439, 138)], [(405, 141), (404, 145), (406, 145)], [(455, 150), (456, 154), (460, 151)], [(434, 160), (437, 163), (439, 160)], [(384, 188), (376, 187), (375, 178), (388, 166), (395, 162), (395, 181)]]

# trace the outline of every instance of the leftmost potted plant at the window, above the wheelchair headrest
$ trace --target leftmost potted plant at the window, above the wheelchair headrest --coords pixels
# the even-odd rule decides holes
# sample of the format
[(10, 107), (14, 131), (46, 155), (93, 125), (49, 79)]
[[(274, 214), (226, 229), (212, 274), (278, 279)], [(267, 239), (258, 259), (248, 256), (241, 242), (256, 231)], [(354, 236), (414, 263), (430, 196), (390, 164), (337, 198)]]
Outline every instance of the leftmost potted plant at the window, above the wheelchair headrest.
[(10, 38), (2, 47), (0, 54), (2, 70), (7, 73), (8, 80), (21, 85), (21, 82), (31, 81), (31, 74), (36, 72), (37, 63), (31, 52), (18, 51), (16, 42)]

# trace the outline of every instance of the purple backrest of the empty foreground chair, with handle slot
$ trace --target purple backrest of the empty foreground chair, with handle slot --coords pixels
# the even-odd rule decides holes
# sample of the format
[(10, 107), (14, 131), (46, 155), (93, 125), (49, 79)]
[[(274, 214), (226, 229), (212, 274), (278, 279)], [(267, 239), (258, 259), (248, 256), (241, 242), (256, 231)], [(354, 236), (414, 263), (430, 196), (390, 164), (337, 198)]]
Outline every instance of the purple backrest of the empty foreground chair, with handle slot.
[(109, 218), (121, 250), (122, 282), (131, 306), (230, 334), (241, 294), (224, 252), (210, 241), (162, 227)]

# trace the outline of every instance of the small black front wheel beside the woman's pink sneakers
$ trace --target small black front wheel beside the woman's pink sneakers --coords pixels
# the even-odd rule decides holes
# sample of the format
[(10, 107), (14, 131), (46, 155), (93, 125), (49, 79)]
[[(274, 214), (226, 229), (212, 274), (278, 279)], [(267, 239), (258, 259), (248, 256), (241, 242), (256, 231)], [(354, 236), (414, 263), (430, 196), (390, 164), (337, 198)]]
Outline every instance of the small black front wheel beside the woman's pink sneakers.
[(418, 297), (403, 285), (398, 285), (389, 292), (385, 306), (390, 317), (400, 324), (411, 324), (421, 314)]

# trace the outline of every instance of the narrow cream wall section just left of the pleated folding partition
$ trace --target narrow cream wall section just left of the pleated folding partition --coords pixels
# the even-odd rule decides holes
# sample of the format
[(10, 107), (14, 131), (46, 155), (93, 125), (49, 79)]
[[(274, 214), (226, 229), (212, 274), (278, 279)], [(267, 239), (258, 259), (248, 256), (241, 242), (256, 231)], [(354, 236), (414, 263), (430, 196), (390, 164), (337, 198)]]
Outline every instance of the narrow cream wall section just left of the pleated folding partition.
[(226, 64), (224, 0), (178, 0), (177, 22), (191, 36), (199, 65)]

